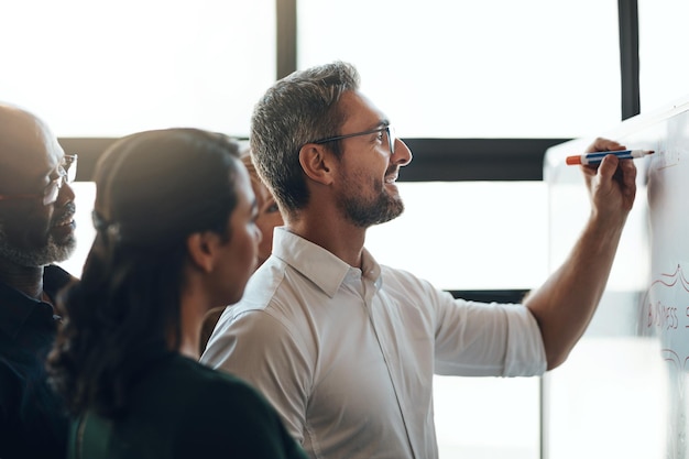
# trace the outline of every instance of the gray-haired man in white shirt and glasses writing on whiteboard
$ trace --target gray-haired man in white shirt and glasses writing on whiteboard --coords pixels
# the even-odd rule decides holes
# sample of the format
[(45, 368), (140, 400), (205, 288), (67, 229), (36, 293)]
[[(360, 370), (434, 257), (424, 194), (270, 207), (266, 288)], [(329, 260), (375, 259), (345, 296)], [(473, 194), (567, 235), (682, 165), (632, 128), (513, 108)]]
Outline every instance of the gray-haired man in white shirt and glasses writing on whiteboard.
[[(595, 310), (636, 193), (631, 161), (582, 167), (593, 208), (569, 259), (523, 305), (479, 304), (364, 249), (367, 229), (404, 209), (395, 182), (412, 153), (352, 66), (277, 81), (250, 139), (286, 225), (201, 361), (262, 391), (313, 458), (437, 458), (434, 373), (531, 376), (559, 365)], [(589, 149), (623, 146), (598, 139)]]

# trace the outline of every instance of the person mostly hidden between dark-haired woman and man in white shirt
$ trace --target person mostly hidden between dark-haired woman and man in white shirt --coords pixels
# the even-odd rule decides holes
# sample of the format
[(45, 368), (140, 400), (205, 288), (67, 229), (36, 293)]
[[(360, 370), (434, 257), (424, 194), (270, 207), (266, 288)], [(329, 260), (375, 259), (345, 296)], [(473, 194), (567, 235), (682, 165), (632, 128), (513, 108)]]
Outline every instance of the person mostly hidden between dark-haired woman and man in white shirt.
[[(267, 189), (263, 181), (261, 181), (261, 177), (259, 177), (256, 168), (251, 161), (251, 154), (249, 151), (242, 154), (241, 160), (244, 167), (247, 167), (247, 171), (249, 172), (249, 177), (251, 177), (251, 188), (256, 197), (256, 206), (259, 208), (256, 227), (259, 227), (262, 236), (261, 243), (259, 244), (259, 265), (256, 266), (259, 267), (271, 255), (271, 250), (273, 248), (273, 229), (282, 226), (284, 222), (282, 216), (280, 215), (277, 203), (275, 203), (275, 198), (271, 194), (270, 189)], [(210, 335), (212, 334), (212, 330), (223, 310), (225, 306), (220, 306), (208, 312), (206, 315), (201, 326), (199, 353), (203, 353), (206, 350), (206, 343), (208, 342), (208, 339), (210, 338)]]

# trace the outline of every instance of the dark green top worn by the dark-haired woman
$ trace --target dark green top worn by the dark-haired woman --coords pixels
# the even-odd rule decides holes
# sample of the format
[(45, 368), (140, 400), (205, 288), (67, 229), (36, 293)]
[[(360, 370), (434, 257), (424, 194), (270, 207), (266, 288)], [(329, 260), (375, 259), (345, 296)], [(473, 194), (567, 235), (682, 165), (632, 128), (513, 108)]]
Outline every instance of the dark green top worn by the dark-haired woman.
[(307, 458), (243, 381), (177, 353), (146, 367), (124, 416), (73, 424), (70, 459)]

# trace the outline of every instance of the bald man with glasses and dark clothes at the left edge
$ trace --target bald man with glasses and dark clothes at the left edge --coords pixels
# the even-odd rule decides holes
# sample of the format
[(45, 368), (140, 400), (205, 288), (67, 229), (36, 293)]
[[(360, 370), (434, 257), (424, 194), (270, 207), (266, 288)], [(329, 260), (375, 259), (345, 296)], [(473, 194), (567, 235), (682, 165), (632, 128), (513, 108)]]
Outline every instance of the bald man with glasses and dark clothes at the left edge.
[(45, 358), (72, 276), (76, 156), (32, 113), (0, 103), (0, 458), (64, 458), (67, 420)]

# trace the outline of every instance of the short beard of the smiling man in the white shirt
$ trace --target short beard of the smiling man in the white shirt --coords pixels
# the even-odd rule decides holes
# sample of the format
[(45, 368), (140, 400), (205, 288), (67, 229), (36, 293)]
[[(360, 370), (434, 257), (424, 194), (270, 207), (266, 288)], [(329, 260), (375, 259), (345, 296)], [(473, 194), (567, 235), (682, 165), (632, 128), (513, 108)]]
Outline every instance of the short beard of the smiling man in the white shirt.
[(347, 219), (357, 227), (369, 228), (402, 215), (404, 211), (402, 198), (390, 195), (384, 185), (381, 187), (381, 193), (372, 200), (361, 196), (342, 196), (339, 207), (343, 210)]

